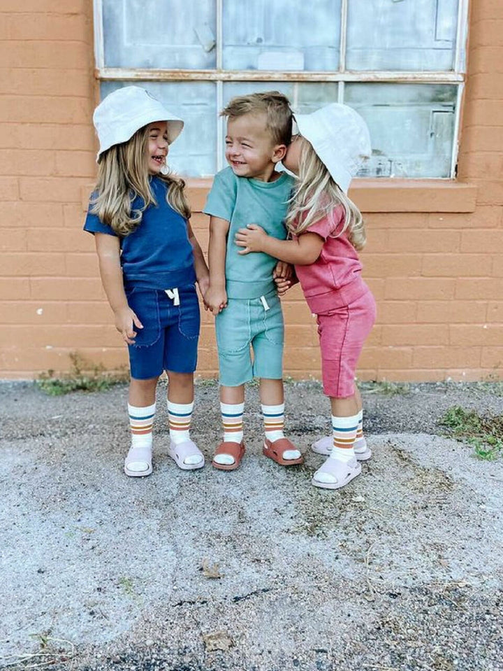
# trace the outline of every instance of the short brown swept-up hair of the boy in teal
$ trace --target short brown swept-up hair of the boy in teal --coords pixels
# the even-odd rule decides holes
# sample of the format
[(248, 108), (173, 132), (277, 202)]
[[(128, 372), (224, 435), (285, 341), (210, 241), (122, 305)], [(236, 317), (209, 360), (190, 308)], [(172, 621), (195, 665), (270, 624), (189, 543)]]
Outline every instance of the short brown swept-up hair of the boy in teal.
[(293, 114), (289, 99), (279, 91), (236, 96), (221, 111), (220, 116), (232, 119), (244, 114), (256, 113), (265, 113), (265, 127), (275, 144), (288, 146), (291, 143)]

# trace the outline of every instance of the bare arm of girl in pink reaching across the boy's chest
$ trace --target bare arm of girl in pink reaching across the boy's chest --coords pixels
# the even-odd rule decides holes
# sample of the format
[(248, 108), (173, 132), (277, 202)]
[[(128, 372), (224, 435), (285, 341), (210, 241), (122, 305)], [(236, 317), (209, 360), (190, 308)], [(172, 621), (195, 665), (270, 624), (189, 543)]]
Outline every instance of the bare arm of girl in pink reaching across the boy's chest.
[(302, 233), (293, 240), (278, 240), (268, 235), (263, 228), (249, 224), (240, 228), (235, 235), (235, 243), (243, 249), (240, 254), (265, 252), (270, 256), (299, 266), (307, 266), (321, 254), (323, 238), (317, 233)]

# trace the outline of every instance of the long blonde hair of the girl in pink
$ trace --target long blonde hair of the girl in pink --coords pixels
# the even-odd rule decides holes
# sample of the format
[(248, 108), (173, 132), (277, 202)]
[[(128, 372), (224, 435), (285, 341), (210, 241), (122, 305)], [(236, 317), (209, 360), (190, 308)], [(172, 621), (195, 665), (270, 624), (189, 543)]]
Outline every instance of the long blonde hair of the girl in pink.
[(333, 177), (321, 162), (311, 143), (299, 136), (298, 183), (290, 199), (286, 215), (286, 227), (293, 234), (300, 234), (338, 207), (344, 208), (344, 224), (337, 229), (334, 237), (346, 232), (349, 241), (357, 250), (365, 246), (365, 225), (361, 212), (335, 183)]

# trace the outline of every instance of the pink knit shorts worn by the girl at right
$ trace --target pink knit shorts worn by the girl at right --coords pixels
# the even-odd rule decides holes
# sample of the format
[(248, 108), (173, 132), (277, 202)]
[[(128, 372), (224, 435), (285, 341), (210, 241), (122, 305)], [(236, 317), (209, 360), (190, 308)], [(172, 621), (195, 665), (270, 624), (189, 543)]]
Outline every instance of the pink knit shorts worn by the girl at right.
[(376, 304), (370, 290), (349, 305), (317, 316), (323, 393), (330, 398), (355, 393), (356, 365), (375, 318)]

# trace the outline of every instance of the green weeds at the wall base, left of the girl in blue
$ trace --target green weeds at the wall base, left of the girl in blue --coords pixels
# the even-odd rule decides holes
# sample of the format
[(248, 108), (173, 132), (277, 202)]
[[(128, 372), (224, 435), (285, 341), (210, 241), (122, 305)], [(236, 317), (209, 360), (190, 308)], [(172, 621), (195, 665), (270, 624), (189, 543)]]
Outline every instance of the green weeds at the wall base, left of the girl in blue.
[(103, 365), (86, 360), (78, 352), (69, 354), (71, 369), (60, 377), (54, 377), (54, 371), (42, 373), (36, 385), (50, 396), (61, 396), (73, 391), (105, 391), (115, 384), (126, 382), (126, 372), (110, 374)]

